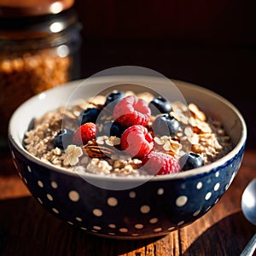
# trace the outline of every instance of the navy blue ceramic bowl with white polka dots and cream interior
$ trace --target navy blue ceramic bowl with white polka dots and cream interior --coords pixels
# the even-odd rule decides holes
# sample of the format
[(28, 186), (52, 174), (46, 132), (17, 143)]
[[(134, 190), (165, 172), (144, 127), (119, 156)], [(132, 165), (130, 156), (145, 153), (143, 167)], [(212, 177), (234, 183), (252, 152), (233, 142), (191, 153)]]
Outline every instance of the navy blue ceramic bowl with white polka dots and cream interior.
[(237, 108), (222, 96), (195, 84), (172, 82), (187, 102), (195, 102), (204, 113), (223, 123), (233, 144), (229, 153), (209, 165), (149, 179), (81, 174), (45, 163), (26, 151), (24, 134), (32, 118), (65, 105), (71, 96), (86, 98), (106, 84), (121, 84), (124, 90), (137, 90), (132, 84), (146, 84), (166, 97), (170, 95), (170, 86), (160, 78), (87, 79), (83, 90), (83, 81), (73, 81), (33, 96), (16, 109), (9, 122), (9, 148), (15, 166), (36, 201), (64, 222), (116, 239), (163, 236), (193, 223), (214, 207), (241, 166), (246, 124)]

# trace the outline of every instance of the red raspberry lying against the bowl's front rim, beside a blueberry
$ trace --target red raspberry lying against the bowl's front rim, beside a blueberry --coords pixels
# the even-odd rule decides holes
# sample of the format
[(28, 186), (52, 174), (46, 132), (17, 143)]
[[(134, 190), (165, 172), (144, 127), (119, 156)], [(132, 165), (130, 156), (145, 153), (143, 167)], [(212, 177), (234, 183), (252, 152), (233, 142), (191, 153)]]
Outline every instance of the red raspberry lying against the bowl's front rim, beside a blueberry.
[(151, 152), (143, 158), (143, 166), (150, 175), (163, 175), (180, 171), (179, 162), (171, 154)]

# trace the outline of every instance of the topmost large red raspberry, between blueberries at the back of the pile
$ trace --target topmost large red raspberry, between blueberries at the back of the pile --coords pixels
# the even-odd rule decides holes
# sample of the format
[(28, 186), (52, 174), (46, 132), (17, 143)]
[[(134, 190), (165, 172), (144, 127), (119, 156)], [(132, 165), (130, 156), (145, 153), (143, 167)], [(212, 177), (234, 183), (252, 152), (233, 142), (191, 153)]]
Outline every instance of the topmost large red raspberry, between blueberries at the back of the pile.
[(125, 96), (113, 108), (113, 118), (120, 125), (129, 127), (131, 125), (148, 125), (151, 110), (148, 103), (137, 96)]

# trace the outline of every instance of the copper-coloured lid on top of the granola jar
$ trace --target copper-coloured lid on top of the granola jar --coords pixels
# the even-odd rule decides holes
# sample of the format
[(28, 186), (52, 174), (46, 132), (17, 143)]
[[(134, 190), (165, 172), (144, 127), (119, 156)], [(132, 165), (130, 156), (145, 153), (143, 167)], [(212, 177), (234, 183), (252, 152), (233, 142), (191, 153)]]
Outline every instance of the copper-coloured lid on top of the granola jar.
[(58, 14), (73, 6), (74, 0), (1, 0), (1, 17)]

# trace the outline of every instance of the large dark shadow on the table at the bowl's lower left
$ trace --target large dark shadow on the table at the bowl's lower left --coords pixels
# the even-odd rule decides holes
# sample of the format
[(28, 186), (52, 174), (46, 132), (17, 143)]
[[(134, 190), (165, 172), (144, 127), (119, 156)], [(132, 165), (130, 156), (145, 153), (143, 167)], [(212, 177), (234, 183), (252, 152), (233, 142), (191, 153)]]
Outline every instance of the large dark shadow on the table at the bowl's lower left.
[(0, 201), (1, 256), (114, 256), (158, 239), (118, 241), (91, 236), (55, 218), (32, 197)]

